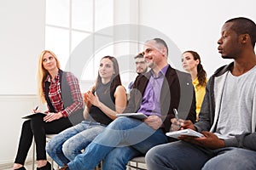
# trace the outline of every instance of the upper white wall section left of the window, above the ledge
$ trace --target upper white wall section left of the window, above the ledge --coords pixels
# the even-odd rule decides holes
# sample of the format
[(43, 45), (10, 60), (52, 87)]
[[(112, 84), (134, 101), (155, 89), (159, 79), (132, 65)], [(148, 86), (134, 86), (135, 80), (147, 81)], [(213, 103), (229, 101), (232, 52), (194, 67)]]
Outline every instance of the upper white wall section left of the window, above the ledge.
[(0, 94), (35, 94), (44, 49), (44, 1), (1, 0)]

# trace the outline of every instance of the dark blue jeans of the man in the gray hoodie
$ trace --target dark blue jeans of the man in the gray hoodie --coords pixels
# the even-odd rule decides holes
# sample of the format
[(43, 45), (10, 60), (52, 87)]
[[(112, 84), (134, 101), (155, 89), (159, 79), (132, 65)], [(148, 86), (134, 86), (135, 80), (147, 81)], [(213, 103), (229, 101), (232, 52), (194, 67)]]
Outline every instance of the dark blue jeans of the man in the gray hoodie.
[(256, 169), (255, 160), (256, 151), (253, 150), (236, 147), (210, 150), (183, 141), (160, 144), (146, 155), (148, 170), (253, 170)]

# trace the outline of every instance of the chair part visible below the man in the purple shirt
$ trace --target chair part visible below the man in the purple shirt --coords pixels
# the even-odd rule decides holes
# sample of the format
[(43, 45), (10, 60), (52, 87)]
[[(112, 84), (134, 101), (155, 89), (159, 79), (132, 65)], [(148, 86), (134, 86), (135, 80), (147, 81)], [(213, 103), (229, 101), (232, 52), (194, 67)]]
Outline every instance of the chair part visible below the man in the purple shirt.
[(137, 156), (131, 159), (128, 162), (127, 167), (129, 170), (138, 169), (138, 170), (147, 170), (147, 165), (145, 161), (145, 156)]

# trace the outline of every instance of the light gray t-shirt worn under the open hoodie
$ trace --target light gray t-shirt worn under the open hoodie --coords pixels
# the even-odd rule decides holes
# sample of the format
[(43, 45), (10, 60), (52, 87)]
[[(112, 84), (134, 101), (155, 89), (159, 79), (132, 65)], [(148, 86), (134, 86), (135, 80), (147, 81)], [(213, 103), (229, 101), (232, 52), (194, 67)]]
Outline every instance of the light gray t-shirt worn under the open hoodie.
[(255, 80), (256, 66), (239, 77), (228, 73), (215, 132), (219, 139), (230, 139), (237, 134), (252, 132)]

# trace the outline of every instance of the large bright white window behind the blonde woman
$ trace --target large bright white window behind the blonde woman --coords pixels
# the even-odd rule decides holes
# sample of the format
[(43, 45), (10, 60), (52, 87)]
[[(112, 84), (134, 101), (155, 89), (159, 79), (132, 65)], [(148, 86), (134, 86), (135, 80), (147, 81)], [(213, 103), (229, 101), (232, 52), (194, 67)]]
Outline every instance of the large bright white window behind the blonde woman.
[[(95, 48), (97, 41), (113, 38), (101, 31), (113, 26), (113, 0), (46, 0), (45, 23), (45, 49), (58, 56), (64, 70), (72, 71), (78, 66), (79, 60), (70, 58), (79, 45), (90, 42), (91, 46), (80, 53), (84, 68), (76, 76), (82, 81), (95, 81), (99, 60), (105, 55), (113, 55), (112, 46)], [(84, 56), (86, 54), (91, 55)]]

